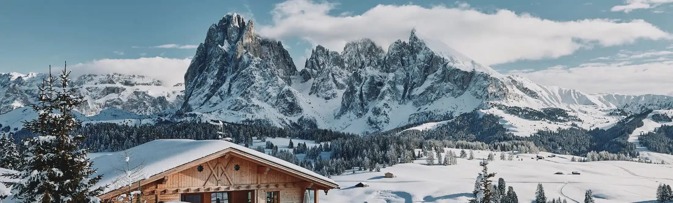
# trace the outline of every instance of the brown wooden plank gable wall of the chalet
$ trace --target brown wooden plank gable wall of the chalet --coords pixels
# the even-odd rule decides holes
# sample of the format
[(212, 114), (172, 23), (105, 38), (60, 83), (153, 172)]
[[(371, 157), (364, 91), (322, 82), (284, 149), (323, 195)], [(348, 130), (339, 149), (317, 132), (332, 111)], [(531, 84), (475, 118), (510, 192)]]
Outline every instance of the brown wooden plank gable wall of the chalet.
[[(234, 169), (236, 165), (239, 167), (238, 171)], [(199, 171), (199, 167), (203, 167), (203, 170)], [(258, 171), (262, 169), (263, 171)], [(164, 176), (141, 183), (143, 194), (153, 196), (147, 202), (179, 201), (182, 194), (201, 193), (204, 195), (203, 200), (208, 200), (203, 203), (210, 203), (211, 192), (254, 190), (254, 198), (258, 203), (265, 203), (266, 193), (274, 191), (279, 192), (281, 203), (291, 203), (302, 202), (306, 188), (314, 188), (316, 196), (319, 190), (324, 190), (310, 179), (300, 178), (288, 171), (279, 171), (276, 167), (263, 165), (254, 159), (231, 152), (200, 163), (189, 163), (181, 171), (158, 175)], [(109, 192), (105, 195), (112, 197)]]

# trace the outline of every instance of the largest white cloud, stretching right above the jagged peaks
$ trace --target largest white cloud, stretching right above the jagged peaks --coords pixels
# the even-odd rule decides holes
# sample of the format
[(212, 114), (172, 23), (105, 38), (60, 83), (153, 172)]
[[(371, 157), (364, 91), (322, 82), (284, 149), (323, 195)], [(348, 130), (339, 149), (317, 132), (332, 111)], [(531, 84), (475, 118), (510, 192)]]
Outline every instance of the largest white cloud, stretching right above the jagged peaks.
[(596, 44), (618, 46), (637, 39), (671, 38), (671, 34), (642, 19), (559, 22), (506, 9), (483, 13), (466, 5), (378, 5), (361, 15), (328, 14), (334, 6), (308, 0), (278, 3), (271, 11), (273, 23), (262, 26), (259, 33), (279, 39), (299, 37), (314, 45), (343, 50), (346, 42), (358, 38), (371, 38), (387, 48), (397, 39), (406, 40), (417, 28), (419, 36), (439, 40), (485, 65), (557, 58)]

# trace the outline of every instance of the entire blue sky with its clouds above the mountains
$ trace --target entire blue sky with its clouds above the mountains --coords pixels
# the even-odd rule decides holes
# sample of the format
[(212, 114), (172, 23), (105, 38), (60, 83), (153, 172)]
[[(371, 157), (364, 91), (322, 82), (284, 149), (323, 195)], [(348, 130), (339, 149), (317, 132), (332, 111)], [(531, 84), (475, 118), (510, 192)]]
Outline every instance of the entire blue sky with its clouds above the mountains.
[(207, 28), (237, 12), (282, 40), (297, 64), (316, 44), (341, 51), (366, 37), (386, 48), (417, 28), (544, 85), (673, 95), (673, 0), (652, 2), (0, 1), (0, 72), (42, 72), (67, 60), (85, 72), (179, 81)]

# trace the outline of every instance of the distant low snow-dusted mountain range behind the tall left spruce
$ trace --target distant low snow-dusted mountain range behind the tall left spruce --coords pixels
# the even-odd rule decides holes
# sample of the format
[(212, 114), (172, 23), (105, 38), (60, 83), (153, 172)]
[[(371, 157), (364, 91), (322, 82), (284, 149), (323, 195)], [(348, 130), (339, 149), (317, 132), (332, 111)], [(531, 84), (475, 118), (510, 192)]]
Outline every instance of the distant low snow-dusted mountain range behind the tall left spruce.
[[(33, 104), (44, 77), (45, 73), (0, 73), (0, 114)], [(151, 115), (179, 108), (184, 101), (182, 84), (166, 87), (162, 81), (142, 75), (81, 75), (73, 80), (73, 87), (79, 87), (87, 99), (87, 104), (77, 108), (85, 116), (106, 108)]]

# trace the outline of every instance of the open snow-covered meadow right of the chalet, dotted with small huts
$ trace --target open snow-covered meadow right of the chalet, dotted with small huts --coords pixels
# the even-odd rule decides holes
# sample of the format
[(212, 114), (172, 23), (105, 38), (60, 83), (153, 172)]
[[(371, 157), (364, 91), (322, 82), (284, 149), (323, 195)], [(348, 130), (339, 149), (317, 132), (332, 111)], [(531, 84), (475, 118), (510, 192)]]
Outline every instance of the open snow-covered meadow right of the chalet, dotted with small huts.
[[(460, 149), (450, 149), (459, 154)], [(477, 159), (487, 157), (489, 151), (474, 151)], [(551, 153), (540, 153), (551, 155)], [(584, 192), (593, 190), (596, 202), (623, 203), (655, 200), (660, 183), (673, 184), (673, 167), (631, 161), (571, 162), (569, 155), (530, 159), (535, 155), (518, 154), (523, 161), (495, 160), (489, 171), (497, 173), (493, 181), (503, 177), (507, 186), (513, 186), (519, 202), (532, 202), (538, 183), (544, 186), (546, 196), (566, 198), (568, 202), (583, 202)], [(499, 153), (495, 156), (499, 157)], [(320, 196), (320, 202), (467, 202), (472, 198), (474, 180), (481, 171), (479, 161), (458, 158), (458, 165), (425, 165), (425, 159), (382, 168), (381, 172), (356, 171), (355, 174), (336, 175), (341, 189), (330, 190)], [(557, 171), (581, 175), (555, 175)], [(394, 178), (384, 178), (386, 172)], [(348, 171), (347, 173), (351, 173)], [(356, 188), (366, 182), (369, 187)]]

